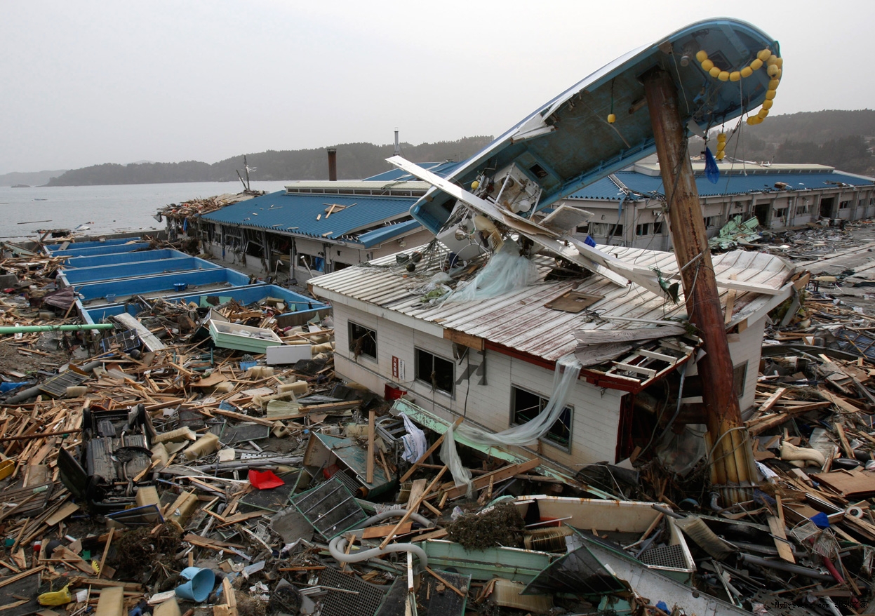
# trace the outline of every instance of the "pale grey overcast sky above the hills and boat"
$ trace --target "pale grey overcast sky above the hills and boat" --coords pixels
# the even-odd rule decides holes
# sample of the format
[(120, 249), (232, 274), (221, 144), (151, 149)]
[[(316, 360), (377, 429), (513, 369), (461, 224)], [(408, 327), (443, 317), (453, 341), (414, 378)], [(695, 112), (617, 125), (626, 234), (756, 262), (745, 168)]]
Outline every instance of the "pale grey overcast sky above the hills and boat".
[(872, 0), (4, 0), (0, 173), (498, 135), (722, 14), (781, 43), (774, 114), (872, 107)]

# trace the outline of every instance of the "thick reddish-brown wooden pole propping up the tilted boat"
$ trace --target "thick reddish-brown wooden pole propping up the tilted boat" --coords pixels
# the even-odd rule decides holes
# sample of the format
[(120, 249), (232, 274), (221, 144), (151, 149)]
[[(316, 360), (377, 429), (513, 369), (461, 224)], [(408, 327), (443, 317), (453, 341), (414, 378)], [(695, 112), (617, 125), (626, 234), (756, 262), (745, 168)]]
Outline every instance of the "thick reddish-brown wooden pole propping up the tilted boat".
[(732, 357), (711, 250), (705, 235), (696, 179), (683, 137), (677, 88), (671, 75), (654, 69), (644, 76), (644, 89), (659, 156), (662, 185), (669, 205), (669, 227), (690, 322), (697, 326), (705, 356), (697, 363), (702, 398), (708, 414), (711, 483), (724, 507), (747, 500), (756, 485), (756, 466), (747, 429), (735, 394)]

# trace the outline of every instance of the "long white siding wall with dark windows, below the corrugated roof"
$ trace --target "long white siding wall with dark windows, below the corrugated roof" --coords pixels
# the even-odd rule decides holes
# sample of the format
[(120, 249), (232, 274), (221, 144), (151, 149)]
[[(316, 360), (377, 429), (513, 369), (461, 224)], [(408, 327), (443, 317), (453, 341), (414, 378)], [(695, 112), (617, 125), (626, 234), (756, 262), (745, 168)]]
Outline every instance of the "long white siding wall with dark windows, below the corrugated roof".
[[(378, 360), (365, 356), (353, 360), (348, 340), (350, 320), (377, 332)], [(479, 385), (479, 375), (472, 374), (470, 381), (462, 381), (455, 386), (452, 396), (432, 391), (430, 384), (415, 379), (414, 347), (452, 360), (451, 342), (343, 304), (334, 304), (334, 323), (337, 342), (334, 361), (338, 374), (350, 381), (359, 382), (378, 394), (383, 394), (386, 383), (400, 386), (423, 409), (444, 417), (449, 417), (451, 411), (465, 415), (472, 422), (489, 430), (505, 430), (511, 422), (512, 386), (525, 388), (548, 398), (552, 392), (552, 370), (493, 351), (486, 352), (486, 385)], [(403, 380), (392, 376), (393, 355), (405, 363)], [(476, 366), (482, 361), (482, 357), (479, 353), (470, 351), (461, 365), (456, 366), (456, 379), (464, 374), (469, 360), (472, 366)], [(622, 395), (622, 392), (613, 389), (602, 391), (583, 380), (577, 381), (569, 402), (573, 408), (570, 451), (543, 441), (538, 447), (539, 453), (572, 469), (575, 468), (574, 465), (588, 462), (613, 462)]]

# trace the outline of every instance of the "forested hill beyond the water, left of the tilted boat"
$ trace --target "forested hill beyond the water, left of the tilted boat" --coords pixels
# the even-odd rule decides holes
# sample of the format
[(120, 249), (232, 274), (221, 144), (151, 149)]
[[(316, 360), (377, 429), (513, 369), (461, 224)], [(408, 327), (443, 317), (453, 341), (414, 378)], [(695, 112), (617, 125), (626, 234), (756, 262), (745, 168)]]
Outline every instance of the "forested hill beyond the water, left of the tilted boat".
[[(417, 162), (465, 160), (492, 143), (493, 137), (465, 137), (458, 141), (434, 144), (402, 144), (404, 158)], [(338, 179), (362, 179), (386, 172), (391, 165), (395, 145), (339, 144), (337, 148)], [(325, 148), (284, 150), (246, 155), (253, 180), (328, 179), (328, 157)], [(130, 165), (94, 165), (62, 173), (49, 180), (47, 186), (95, 186), (116, 184), (165, 184), (170, 182), (225, 182), (237, 180), (243, 170), (243, 155), (226, 158), (209, 165), (195, 160), (182, 163), (131, 163)]]

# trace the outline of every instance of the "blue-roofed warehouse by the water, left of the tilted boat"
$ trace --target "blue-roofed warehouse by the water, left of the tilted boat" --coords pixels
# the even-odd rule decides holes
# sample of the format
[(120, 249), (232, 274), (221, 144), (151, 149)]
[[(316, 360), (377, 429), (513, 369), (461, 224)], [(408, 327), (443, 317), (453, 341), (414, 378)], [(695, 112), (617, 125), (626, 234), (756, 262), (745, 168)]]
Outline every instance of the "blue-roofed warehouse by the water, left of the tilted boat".
[[(429, 163), (444, 175), (458, 163)], [(356, 181), (300, 181), (203, 214), (203, 250), (249, 274), (305, 283), (416, 246), (432, 235), (409, 209), (430, 186), (400, 170)]]

